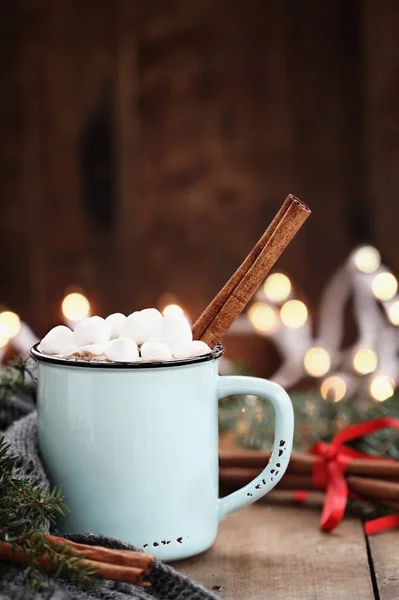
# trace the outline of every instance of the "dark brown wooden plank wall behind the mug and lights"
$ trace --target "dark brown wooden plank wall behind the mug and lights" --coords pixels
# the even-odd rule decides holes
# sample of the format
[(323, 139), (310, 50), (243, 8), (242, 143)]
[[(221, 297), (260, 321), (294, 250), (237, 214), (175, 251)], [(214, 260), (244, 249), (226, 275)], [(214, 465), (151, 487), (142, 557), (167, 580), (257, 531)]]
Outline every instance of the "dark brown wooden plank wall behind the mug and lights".
[(395, 0), (16, 0), (0, 23), (0, 302), (43, 333), (173, 292), (195, 317), (286, 196), (313, 306), (359, 241), (399, 273)]

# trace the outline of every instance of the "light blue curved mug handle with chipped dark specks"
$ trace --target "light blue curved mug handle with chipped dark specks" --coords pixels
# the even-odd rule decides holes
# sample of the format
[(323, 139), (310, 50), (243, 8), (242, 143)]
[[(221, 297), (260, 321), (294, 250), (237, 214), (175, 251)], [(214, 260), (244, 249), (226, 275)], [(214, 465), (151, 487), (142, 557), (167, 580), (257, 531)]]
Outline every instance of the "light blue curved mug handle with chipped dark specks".
[(251, 394), (270, 400), (275, 413), (273, 453), (265, 469), (243, 488), (219, 499), (219, 521), (234, 510), (256, 502), (280, 481), (288, 466), (294, 437), (294, 411), (287, 392), (277, 383), (258, 377), (219, 377), (218, 399), (232, 394)]

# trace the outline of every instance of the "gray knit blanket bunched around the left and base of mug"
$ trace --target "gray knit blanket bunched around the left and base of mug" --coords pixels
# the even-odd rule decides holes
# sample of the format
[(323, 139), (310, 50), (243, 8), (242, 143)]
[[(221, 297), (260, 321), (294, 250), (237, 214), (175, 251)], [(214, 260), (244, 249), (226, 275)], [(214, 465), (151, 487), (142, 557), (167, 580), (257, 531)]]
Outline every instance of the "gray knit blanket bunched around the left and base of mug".
[[(32, 395), (9, 394), (0, 401), (0, 431), (10, 444), (10, 453), (17, 455), (16, 476), (42, 489), (49, 488), (37, 448), (37, 413)], [(62, 483), (62, 482), (60, 482)], [(135, 550), (119, 540), (91, 535), (65, 536), (84, 544)], [(141, 588), (129, 583), (104, 581), (94, 592), (78, 590), (65, 581), (43, 573), (43, 585), (32, 589), (23, 567), (0, 561), (0, 600), (215, 600), (216, 596), (158, 560), (149, 576), (151, 587)]]

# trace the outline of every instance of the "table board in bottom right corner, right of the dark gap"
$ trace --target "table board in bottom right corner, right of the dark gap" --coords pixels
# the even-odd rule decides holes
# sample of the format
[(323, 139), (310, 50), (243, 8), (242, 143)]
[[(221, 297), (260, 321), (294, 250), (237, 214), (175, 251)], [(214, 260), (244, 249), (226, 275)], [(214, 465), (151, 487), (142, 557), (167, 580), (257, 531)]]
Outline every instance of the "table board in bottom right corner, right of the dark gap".
[(379, 600), (399, 598), (399, 531), (368, 536)]

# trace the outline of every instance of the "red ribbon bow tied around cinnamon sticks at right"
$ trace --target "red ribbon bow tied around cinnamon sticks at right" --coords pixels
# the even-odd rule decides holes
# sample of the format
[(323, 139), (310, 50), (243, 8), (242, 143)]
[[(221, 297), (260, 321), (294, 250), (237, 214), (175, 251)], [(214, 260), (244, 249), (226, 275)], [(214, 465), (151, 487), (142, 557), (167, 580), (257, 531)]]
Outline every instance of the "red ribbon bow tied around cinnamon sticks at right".
[[(316, 442), (311, 453), (317, 456), (313, 468), (313, 483), (316, 489), (326, 490), (326, 498), (321, 515), (321, 528), (332, 531), (341, 522), (348, 501), (348, 485), (345, 471), (353, 458), (373, 458), (363, 452), (358, 452), (345, 446), (346, 442), (373, 433), (386, 427), (399, 429), (399, 421), (392, 417), (381, 417), (357, 425), (351, 425), (345, 431), (338, 433), (330, 444)], [(386, 460), (386, 459), (383, 459)], [(301, 495), (298, 494), (298, 500)], [(365, 525), (366, 533), (376, 533), (389, 527), (399, 525), (399, 515), (389, 515), (369, 521)]]

